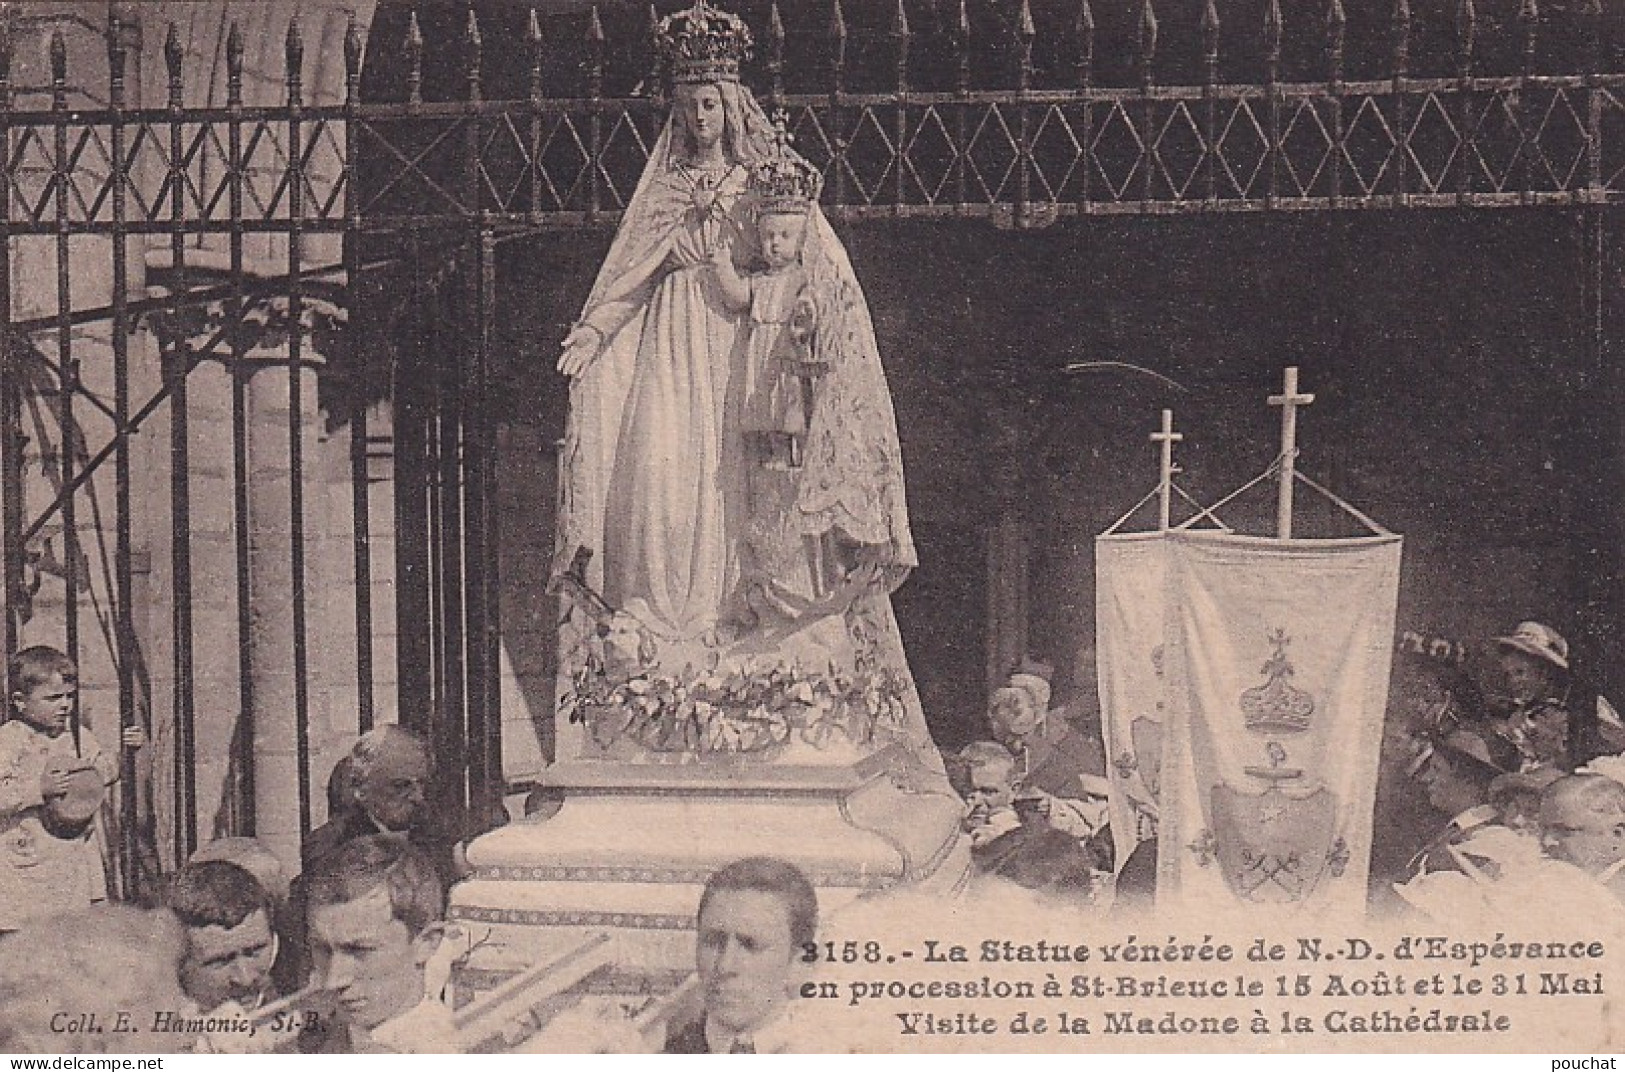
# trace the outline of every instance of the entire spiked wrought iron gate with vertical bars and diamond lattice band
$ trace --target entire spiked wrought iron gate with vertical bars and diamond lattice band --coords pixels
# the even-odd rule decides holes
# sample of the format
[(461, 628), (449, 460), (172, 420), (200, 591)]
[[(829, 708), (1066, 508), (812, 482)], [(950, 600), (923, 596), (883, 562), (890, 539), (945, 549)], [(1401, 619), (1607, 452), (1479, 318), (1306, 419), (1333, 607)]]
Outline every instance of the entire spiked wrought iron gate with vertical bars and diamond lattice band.
[[(1131, 63), (1115, 80), (1097, 75), (1124, 37), (1100, 36), (1089, 0), (1061, 26), (1035, 19), (1025, 0), (960, 0), (930, 13), (899, 2), (881, 26), (848, 24), (840, 0), (793, 13), (788, 29), (777, 5), (760, 15), (749, 80), (785, 109), (796, 148), (824, 169), (837, 221), (1042, 227), (1102, 214), (1570, 208), (1586, 224), (1591, 359), (1604, 369), (1604, 213), (1625, 195), (1625, 73), (1612, 68), (1612, 28), (1594, 2), (1547, 21), (1536, 0), (1523, 0), (1488, 26), (1474, 0), (1459, 0), (1440, 47), (1438, 26), (1420, 34), (1398, 0), (1375, 28), (1375, 49), (1365, 26), (1355, 62), (1341, 0), (1302, 24), (1268, 0), (1245, 28), (1220, 26), (1206, 0), (1185, 28), (1194, 39), (1172, 47), (1165, 19), (1141, 0), (1121, 21)], [(634, 94), (645, 16), (608, 24), (593, 8), (544, 24), (528, 11), (522, 24), (504, 24), (500, 45), (473, 11), (450, 41), (426, 41), (414, 11), (390, 18), (400, 36), (380, 47), (374, 32), (372, 63), (390, 65), (392, 78), (374, 80), (382, 88), (364, 99), (353, 24), (336, 102), (306, 96), (297, 21), (283, 42), (281, 99), (245, 102), (244, 36), (232, 28), (218, 107), (187, 102), (197, 71), (185, 68), (174, 28), (162, 49), (146, 50), (162, 55), (167, 99), (132, 102), (136, 45), (115, 18), (104, 34), (106, 99), (84, 107), (72, 93), (63, 29), (47, 34), (49, 84), (23, 86), (15, 45), (28, 19), (6, 11), (0, 21), (0, 274), (13, 283), (0, 291), (6, 645), (41, 635), (46, 590), (75, 658), (89, 646), (84, 616), (99, 616), (122, 723), (162, 713), (174, 728), (169, 773), (158, 780), (172, 820), (151, 832), (171, 858), (198, 841), (208, 819), (197, 785), (203, 695), (236, 711), (214, 828), (249, 833), (262, 822), (257, 802), (271, 789), (255, 786), (257, 770), (276, 765), (263, 747), (257, 759), (257, 747), (283, 700), (292, 785), (275, 789), (297, 793), (299, 833), (312, 823), (310, 661), (314, 646), (328, 645), (310, 620), (317, 413), (348, 440), (351, 546), (340, 586), (354, 590), (343, 630), (354, 640), (354, 716), (346, 710), (338, 721), (348, 733), (367, 729), (384, 707), (380, 689), (393, 689), (398, 703), (388, 707), (432, 736), (452, 796), (489, 804), (502, 791), (496, 249), (541, 229), (611, 226), (663, 110)], [(496, 18), (515, 16), (504, 8)], [(1547, 34), (1584, 44), (1571, 52), (1580, 63), (1542, 67)], [(1419, 37), (1432, 42), (1425, 55)], [(1224, 41), (1242, 42), (1245, 80), (1225, 76)], [(1168, 52), (1185, 58), (1160, 62)], [(500, 76), (486, 73), (492, 57), (504, 60)], [(1373, 65), (1384, 70), (1372, 75)], [(250, 270), (250, 242), (276, 244), (280, 268)], [(88, 263), (110, 273), (106, 300), (75, 292)], [(39, 265), (52, 268), (54, 286), (32, 274)], [(39, 297), (29, 309), (13, 305), (20, 286)], [(104, 335), (91, 365), (84, 331)], [(156, 341), (153, 361), (132, 349), (143, 331)], [(205, 367), (224, 375), (224, 403), (210, 421), (228, 432), (219, 456), (200, 458)], [(257, 395), (268, 367), (281, 383), (275, 404)], [(1617, 398), (1612, 375), (1607, 396)], [(369, 495), (380, 479), (370, 426), (380, 396), (393, 403), (387, 521), (396, 551), (387, 562), (375, 554), (385, 518)], [(281, 478), (257, 478), (270, 450), (266, 414), (283, 422), (286, 491)], [(158, 426), (167, 429), (167, 536), (148, 542), (167, 549), (161, 568), (136, 562), (132, 530), (138, 497), (158, 494), (138, 489), (136, 473), (151, 456), (141, 432)], [(84, 512), (102, 508), (98, 482), (109, 471), (114, 505), (102, 525)], [(205, 471), (229, 478), (214, 487), (229, 520), (211, 530), (229, 547), (214, 547), (200, 577), (198, 523), (218, 510), (197, 495)], [(93, 577), (89, 533), (91, 551), (110, 560), (102, 578)], [(138, 627), (138, 565), (169, 578), (162, 627), (151, 617)], [(388, 685), (372, 594), (384, 567), (398, 593)], [(229, 616), (203, 627), (198, 598), (221, 596), (216, 583), (229, 588)], [(231, 633), (224, 646), (221, 627)], [(200, 663), (202, 650), (211, 655)], [(200, 672), (221, 679), (223, 653), (229, 698), (200, 685)], [(158, 679), (169, 684), (158, 689)], [(122, 861), (132, 885), (151, 814), (136, 775), (127, 754)]]

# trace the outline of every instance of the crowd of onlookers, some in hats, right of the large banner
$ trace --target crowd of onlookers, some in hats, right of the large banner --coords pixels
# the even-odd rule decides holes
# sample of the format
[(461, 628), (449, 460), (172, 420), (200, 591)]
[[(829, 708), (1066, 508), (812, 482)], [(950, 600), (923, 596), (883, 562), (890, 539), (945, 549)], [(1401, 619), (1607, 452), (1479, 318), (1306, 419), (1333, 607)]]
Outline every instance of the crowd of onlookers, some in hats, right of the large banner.
[(1402, 653), (1384, 723), (1372, 901), (1469, 919), (1625, 900), (1625, 726), (1568, 642), (1521, 622), (1485, 658)]

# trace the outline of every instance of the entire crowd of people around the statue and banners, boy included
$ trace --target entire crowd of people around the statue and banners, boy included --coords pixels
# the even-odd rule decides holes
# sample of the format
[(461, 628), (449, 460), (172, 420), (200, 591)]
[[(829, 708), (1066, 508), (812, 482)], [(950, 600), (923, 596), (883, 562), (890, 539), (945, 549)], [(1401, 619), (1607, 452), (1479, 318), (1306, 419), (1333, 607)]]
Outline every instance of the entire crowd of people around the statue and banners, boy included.
[[(1524, 622), (1490, 651), (1482, 664), (1396, 659), (1373, 910), (1451, 923), (1531, 900), (1617, 911), (1625, 726), (1573, 672), (1554, 629)], [(460, 950), (445, 905), (468, 871), (470, 827), (429, 807), (421, 737), (380, 726), (358, 739), (333, 770), (330, 819), (306, 838), (297, 877), (254, 838), (221, 838), (169, 875), (161, 910), (143, 911), (98, 905), (94, 807), (86, 820), (70, 804), (99, 801), (119, 763), (72, 724), (72, 661), (29, 648), (8, 681), (0, 1049), (448, 1053), (468, 1041), (447, 989)], [(1154, 884), (1136, 867), (1144, 851), (1115, 859), (1098, 737), (1050, 698), (1050, 668), (1025, 661), (994, 692), (990, 737), (949, 757), (973, 869), (994, 888), (1061, 903), (1102, 908), (1115, 893), (1138, 905)], [(1147, 846), (1154, 858), (1154, 838)], [(816, 927), (817, 895), (793, 864), (757, 858), (715, 872), (696, 919), (692, 1001), (655, 1048), (798, 1048), (788, 997)]]

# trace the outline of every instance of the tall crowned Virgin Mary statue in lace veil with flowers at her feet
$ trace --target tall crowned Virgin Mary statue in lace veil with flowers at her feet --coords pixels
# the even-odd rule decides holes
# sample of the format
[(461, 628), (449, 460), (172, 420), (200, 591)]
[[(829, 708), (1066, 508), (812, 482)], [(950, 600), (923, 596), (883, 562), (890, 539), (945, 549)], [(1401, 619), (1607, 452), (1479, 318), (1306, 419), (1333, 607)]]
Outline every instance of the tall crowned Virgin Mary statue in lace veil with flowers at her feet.
[(814, 185), (796, 268), (804, 445), (764, 466), (741, 413), (751, 333), (777, 328), (723, 279), (760, 274), (756, 177), (812, 169), (739, 84), (741, 19), (702, 0), (656, 45), (671, 115), (559, 357), (561, 710), (619, 757), (791, 737), (925, 749), (890, 609), (915, 549), (863, 291)]

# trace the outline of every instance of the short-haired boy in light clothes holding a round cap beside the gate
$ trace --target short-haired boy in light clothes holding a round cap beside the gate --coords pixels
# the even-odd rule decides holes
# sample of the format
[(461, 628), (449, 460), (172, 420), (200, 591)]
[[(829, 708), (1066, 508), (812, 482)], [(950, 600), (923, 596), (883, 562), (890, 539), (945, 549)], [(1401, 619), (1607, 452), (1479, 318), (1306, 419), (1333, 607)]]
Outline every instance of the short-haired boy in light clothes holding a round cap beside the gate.
[[(70, 729), (78, 668), (44, 645), (6, 666), (11, 718), (0, 724), (0, 932), (107, 898), (96, 812), (119, 757)], [(125, 747), (146, 737), (138, 726)]]

